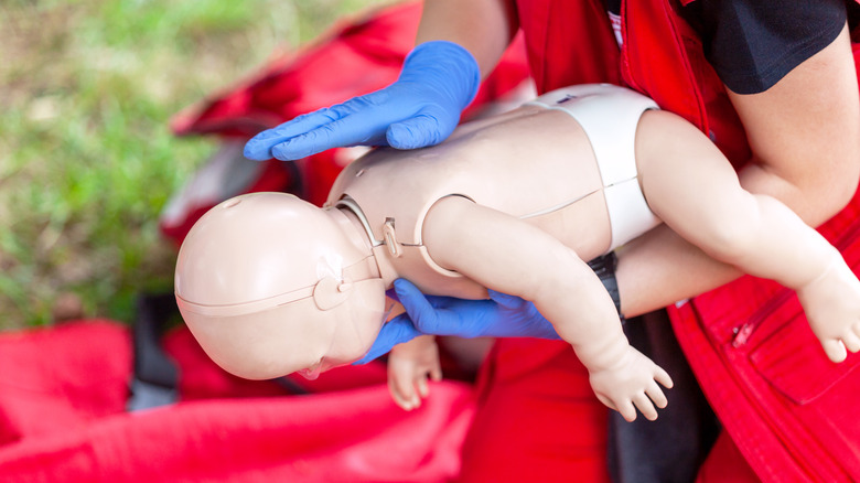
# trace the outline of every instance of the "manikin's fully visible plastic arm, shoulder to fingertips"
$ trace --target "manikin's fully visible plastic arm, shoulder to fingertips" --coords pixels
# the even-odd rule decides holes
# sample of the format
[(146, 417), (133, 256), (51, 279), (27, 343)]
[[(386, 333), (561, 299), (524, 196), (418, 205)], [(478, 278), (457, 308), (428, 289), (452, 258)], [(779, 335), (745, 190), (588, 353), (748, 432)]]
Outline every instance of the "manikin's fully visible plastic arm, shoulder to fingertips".
[[(594, 393), (627, 420), (666, 405), (665, 371), (634, 350), (612, 299), (577, 254), (513, 216), (449, 196), (430, 210), (423, 242), (433, 260), (504, 293), (535, 303), (589, 369)], [(635, 407), (634, 407), (635, 406)]]

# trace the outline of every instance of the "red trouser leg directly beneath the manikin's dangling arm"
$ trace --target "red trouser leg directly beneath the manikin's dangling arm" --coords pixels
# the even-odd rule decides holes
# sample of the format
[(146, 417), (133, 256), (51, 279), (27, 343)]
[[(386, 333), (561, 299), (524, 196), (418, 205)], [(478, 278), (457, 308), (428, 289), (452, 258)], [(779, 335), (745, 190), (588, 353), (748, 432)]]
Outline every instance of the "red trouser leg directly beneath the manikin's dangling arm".
[[(563, 342), (546, 346), (567, 347)], [(479, 383), (462, 482), (609, 482), (608, 409), (572, 351), (531, 366), (534, 341), (499, 340)]]

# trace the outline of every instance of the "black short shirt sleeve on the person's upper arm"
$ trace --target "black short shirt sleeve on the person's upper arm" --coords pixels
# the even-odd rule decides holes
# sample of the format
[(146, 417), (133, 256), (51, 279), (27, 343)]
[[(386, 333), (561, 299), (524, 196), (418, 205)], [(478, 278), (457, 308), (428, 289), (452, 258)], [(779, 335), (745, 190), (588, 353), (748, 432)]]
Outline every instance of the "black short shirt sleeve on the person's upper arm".
[(767, 90), (829, 45), (847, 19), (845, 0), (697, 0), (681, 13), (738, 94)]

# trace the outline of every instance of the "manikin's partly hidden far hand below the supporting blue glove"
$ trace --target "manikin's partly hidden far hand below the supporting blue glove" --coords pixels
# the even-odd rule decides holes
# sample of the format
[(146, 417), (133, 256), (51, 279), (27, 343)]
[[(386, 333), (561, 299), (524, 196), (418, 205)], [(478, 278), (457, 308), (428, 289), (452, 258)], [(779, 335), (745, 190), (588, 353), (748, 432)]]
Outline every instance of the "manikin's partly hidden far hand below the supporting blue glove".
[(409, 411), (430, 394), (428, 379), (442, 380), (439, 346), (432, 336), (416, 337), (391, 350), (388, 356), (388, 390), (397, 406)]

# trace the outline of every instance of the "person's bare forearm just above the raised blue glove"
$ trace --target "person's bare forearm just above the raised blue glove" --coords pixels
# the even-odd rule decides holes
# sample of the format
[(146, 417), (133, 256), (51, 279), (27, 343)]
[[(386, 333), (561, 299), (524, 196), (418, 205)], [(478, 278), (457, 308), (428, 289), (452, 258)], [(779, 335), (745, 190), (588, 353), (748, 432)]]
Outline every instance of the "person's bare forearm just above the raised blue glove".
[(426, 0), (416, 44), (458, 43), (475, 56), (481, 76), (495, 67), (517, 30), (509, 0)]

